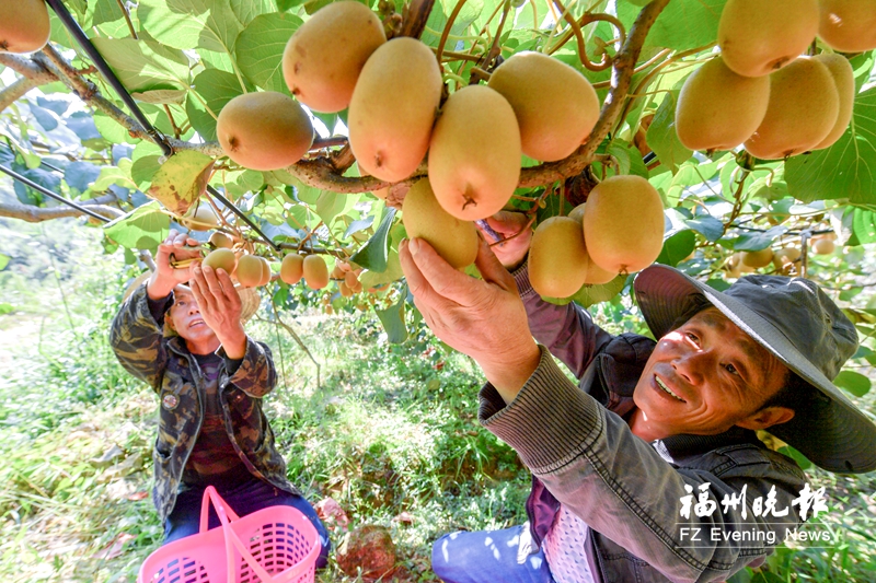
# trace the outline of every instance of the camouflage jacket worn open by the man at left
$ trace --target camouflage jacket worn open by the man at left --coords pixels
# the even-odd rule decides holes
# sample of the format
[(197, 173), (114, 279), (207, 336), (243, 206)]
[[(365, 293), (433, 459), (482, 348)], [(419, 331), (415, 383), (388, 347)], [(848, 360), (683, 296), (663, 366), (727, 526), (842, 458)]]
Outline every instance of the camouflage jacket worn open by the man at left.
[[(200, 432), (205, 383), (185, 341), (163, 337), (162, 323), (155, 322), (149, 310), (145, 284), (119, 308), (110, 341), (122, 365), (160, 398), (152, 498), (163, 522), (176, 502), (183, 468)], [(224, 357), (221, 348), (217, 353)], [(237, 371), (220, 372), (219, 399), (228, 436), (250, 473), (287, 492), (300, 493), (286, 479), (286, 463), (262, 410), (262, 397), (276, 380), (270, 350), (247, 337), (246, 354)]]

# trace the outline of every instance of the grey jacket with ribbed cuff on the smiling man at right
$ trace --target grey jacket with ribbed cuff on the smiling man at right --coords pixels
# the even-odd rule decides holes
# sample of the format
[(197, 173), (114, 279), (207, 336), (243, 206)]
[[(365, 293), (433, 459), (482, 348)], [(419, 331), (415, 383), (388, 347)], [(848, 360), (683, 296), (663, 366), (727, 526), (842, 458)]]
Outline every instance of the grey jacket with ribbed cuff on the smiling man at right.
[[(614, 337), (574, 304), (543, 302), (525, 269), (516, 280), (532, 334), (543, 345), (541, 363), (508, 406), (487, 384), (479, 417), (534, 475), (527, 503), (533, 540), (541, 540), (563, 503), (590, 526), (588, 559), (604, 583), (724, 581), (760, 564), (786, 528), (802, 522), (792, 500), (806, 478), (796, 463), (741, 429), (650, 444), (633, 435), (621, 416), (635, 407), (633, 388), (654, 340)], [(579, 386), (551, 353), (575, 373)], [(691, 494), (685, 485), (695, 504), (703, 483), (710, 485), (717, 510), (682, 517), (681, 499)], [(724, 513), (724, 494), (738, 494), (744, 487), (746, 517), (741, 505)], [(788, 509), (787, 515), (756, 516), (752, 502), (758, 497), (765, 501), (773, 487), (775, 508)], [(734, 540), (737, 530), (761, 536)], [(719, 540), (711, 540), (713, 532)]]

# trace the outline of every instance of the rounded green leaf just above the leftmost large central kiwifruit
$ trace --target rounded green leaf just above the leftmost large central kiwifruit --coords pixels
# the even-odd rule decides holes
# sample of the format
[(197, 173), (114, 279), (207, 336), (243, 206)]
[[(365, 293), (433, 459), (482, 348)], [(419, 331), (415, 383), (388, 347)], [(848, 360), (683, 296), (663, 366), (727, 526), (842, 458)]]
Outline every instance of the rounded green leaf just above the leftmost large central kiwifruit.
[(289, 93), (283, 79), (283, 51), (302, 24), (291, 14), (256, 16), (238, 37), (238, 66), (246, 78), (267, 91)]

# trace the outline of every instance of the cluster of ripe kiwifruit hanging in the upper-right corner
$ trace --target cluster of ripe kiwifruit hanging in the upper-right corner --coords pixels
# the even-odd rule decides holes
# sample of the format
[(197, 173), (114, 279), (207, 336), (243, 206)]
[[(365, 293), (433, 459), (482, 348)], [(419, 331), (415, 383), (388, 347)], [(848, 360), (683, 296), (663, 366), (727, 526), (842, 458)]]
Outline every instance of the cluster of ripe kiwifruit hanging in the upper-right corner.
[(728, 0), (721, 55), (684, 82), (679, 140), (692, 150), (746, 150), (781, 160), (831, 147), (852, 119), (855, 82), (835, 53), (802, 56), (819, 36), (839, 51), (876, 48), (872, 0)]

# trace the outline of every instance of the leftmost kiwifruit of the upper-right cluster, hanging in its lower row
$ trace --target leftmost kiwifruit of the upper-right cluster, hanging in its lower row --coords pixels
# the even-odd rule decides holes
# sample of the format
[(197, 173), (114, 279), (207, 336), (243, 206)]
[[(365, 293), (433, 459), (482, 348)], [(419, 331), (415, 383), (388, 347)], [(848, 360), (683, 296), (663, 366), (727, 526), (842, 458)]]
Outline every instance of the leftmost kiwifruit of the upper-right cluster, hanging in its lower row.
[(769, 102), (769, 77), (736, 74), (717, 56), (681, 88), (676, 107), (678, 139), (691, 150), (733, 150), (754, 133)]

